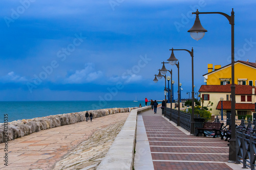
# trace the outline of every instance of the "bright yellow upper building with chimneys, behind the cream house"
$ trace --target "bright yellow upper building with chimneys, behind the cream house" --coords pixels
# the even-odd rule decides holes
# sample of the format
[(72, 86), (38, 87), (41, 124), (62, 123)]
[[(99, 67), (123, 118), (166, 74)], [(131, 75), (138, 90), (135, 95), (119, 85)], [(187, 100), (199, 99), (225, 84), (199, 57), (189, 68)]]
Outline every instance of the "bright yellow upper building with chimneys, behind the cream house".
[[(208, 64), (208, 73), (203, 75), (207, 85), (226, 85), (231, 83), (231, 64)], [(234, 84), (256, 86), (256, 63), (247, 61), (234, 62)]]

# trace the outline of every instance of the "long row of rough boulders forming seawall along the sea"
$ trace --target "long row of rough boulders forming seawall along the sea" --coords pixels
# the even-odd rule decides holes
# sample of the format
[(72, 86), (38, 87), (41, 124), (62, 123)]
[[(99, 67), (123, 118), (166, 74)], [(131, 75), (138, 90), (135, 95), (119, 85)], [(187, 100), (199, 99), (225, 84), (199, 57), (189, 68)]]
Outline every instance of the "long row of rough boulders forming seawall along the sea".
[[(89, 110), (88, 112), (93, 114), (93, 117), (101, 117), (109, 114), (120, 113), (120, 112), (131, 112), (131, 110), (138, 107), (132, 108), (111, 108), (111, 109), (99, 109), (99, 110)], [(82, 122), (86, 120), (86, 111), (76, 112), (76, 113), (66, 113), (50, 115), (46, 117), (37, 117), (32, 119), (22, 119), (15, 120), (8, 123), (8, 140), (13, 140), (18, 137), (29, 135), (40, 130), (45, 130), (49, 128), (55, 128), (63, 125), (70, 125), (77, 122)], [(7, 137), (4, 137), (4, 124), (0, 124), (0, 142)]]

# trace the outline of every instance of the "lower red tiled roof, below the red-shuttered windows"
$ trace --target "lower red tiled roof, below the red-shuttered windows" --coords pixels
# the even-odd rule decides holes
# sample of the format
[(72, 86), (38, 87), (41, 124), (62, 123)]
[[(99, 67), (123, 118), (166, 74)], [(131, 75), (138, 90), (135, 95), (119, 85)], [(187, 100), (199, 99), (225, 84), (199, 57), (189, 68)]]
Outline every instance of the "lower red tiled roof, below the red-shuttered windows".
[[(224, 110), (231, 110), (231, 101), (222, 101), (222, 108)], [(236, 103), (236, 110), (254, 110), (253, 103)], [(221, 101), (219, 101), (216, 109), (221, 110)]]

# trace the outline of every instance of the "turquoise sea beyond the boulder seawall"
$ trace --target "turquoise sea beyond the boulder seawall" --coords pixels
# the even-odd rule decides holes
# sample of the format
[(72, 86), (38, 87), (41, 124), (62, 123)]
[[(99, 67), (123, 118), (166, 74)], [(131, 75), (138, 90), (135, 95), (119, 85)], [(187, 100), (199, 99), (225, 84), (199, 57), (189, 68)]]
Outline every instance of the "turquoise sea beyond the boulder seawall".
[(0, 123), (107, 108), (144, 106), (144, 101), (22, 101), (0, 102)]

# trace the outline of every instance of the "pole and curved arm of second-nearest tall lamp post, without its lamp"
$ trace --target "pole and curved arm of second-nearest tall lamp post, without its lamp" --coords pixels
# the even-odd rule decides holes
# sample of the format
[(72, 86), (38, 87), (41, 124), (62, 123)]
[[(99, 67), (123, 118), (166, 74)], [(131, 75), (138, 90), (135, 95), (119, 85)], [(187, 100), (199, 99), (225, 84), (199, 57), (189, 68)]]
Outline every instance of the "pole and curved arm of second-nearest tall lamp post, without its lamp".
[(191, 91), (191, 96), (192, 96), (192, 112), (191, 112), (191, 125), (190, 125), (190, 134), (194, 134), (195, 133), (195, 129), (194, 129), (194, 125), (195, 125), (195, 122), (194, 122), (194, 113), (195, 113), (195, 97), (194, 97), (194, 88), (195, 88), (195, 85), (194, 85), (194, 49), (192, 47), (192, 50), (189, 51), (189, 50), (186, 50), (186, 49), (174, 49), (172, 48), (172, 54), (174, 56), (174, 51), (186, 51), (190, 54), (191, 56), (191, 73), (192, 73), (192, 91)]

